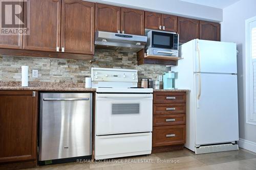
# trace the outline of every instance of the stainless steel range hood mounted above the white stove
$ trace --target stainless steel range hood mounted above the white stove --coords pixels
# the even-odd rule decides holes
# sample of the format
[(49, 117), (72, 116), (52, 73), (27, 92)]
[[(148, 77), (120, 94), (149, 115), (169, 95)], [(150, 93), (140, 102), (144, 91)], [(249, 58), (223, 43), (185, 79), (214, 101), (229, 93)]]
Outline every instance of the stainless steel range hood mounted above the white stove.
[(96, 31), (95, 48), (136, 53), (145, 47), (146, 36)]

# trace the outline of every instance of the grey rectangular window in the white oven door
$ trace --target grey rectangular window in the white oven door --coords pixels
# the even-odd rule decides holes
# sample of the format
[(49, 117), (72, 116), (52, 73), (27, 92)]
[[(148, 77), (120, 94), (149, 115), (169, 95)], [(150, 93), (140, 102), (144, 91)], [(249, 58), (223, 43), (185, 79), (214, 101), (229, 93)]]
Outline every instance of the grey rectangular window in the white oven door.
[(112, 104), (112, 114), (139, 114), (140, 104)]

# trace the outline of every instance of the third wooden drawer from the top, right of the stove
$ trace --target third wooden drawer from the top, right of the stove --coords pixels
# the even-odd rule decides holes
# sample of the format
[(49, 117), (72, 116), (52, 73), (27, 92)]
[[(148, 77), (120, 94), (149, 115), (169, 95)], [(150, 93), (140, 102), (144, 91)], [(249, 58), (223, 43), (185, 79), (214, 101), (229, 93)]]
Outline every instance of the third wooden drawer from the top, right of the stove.
[(185, 114), (153, 116), (153, 126), (185, 125), (185, 124), (186, 124)]

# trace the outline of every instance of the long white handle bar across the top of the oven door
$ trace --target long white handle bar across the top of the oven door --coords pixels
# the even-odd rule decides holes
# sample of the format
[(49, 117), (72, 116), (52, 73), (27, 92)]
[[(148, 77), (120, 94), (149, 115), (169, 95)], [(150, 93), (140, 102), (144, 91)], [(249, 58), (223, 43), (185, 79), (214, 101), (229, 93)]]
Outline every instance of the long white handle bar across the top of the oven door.
[(96, 98), (153, 98), (152, 94), (97, 94)]

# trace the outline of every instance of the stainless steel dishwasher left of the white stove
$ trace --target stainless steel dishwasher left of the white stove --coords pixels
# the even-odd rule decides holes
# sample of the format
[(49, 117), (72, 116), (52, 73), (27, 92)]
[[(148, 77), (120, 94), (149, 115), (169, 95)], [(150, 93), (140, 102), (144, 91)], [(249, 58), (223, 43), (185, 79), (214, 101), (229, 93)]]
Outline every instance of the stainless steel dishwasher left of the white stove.
[(39, 161), (92, 155), (92, 93), (40, 93)]

